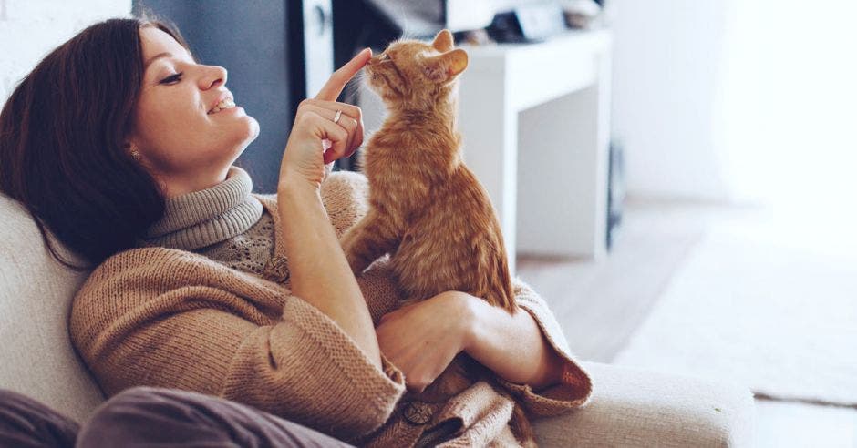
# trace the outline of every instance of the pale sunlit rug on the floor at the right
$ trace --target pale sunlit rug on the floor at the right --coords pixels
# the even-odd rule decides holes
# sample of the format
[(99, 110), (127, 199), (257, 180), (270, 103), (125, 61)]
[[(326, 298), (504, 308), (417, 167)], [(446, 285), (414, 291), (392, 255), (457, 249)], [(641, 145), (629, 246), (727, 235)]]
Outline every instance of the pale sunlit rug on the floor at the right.
[(857, 405), (857, 254), (788, 240), (708, 231), (614, 361)]

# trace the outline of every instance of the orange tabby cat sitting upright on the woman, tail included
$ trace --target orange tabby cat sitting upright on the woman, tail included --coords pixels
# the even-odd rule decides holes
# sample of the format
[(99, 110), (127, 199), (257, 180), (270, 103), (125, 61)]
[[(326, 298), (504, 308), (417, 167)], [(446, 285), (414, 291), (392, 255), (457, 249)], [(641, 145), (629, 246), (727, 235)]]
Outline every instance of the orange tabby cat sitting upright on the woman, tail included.
[[(456, 79), (466, 66), (467, 53), (453, 49), (447, 30), (430, 45), (395, 42), (369, 61), (369, 85), (389, 115), (362, 152), (369, 210), (342, 245), (355, 274), (389, 253), (408, 300), (459, 290), (515, 312), (500, 224), (488, 193), (461, 159)], [(459, 355), (420, 399), (448, 399), (482, 370)], [(512, 428), (532, 444), (520, 406)]]

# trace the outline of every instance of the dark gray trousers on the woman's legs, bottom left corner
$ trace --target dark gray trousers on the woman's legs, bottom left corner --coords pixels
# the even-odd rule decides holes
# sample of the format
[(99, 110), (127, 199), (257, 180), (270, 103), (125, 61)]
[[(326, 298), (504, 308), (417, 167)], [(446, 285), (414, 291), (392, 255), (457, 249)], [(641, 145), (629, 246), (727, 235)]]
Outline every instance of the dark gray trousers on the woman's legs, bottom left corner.
[(83, 425), (20, 393), (0, 390), (0, 447), (346, 447), (323, 433), (238, 402), (135, 387)]

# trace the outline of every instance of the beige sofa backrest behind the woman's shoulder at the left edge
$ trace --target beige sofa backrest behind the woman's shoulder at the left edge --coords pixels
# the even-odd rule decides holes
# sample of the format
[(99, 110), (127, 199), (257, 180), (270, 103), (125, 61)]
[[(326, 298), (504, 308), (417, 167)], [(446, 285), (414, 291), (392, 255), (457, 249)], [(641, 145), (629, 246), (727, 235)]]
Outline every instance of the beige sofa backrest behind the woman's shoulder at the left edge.
[(103, 401), (67, 331), (71, 300), (87, 276), (53, 260), (26, 209), (0, 194), (0, 388), (77, 422)]

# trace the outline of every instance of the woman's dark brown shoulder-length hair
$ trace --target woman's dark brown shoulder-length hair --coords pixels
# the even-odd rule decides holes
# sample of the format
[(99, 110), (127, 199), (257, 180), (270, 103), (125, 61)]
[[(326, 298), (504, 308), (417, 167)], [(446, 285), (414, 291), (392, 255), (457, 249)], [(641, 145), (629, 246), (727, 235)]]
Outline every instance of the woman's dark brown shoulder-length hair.
[[(74, 270), (135, 247), (164, 212), (156, 180), (124, 148), (143, 76), (142, 26), (187, 47), (173, 26), (149, 18), (91, 25), (47, 55), (0, 113), (0, 191)], [(61, 256), (46, 229), (91, 266)]]

